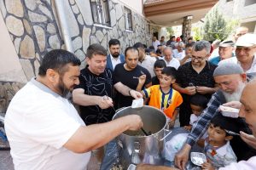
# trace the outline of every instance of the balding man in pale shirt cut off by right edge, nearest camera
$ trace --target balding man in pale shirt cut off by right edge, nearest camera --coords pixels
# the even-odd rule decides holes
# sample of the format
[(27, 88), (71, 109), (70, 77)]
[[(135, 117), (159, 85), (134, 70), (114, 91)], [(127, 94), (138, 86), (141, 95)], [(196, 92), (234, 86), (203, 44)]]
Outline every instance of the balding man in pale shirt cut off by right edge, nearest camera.
[[(226, 103), (226, 106), (240, 109), (239, 116), (244, 117), (248, 127), (253, 131), (253, 135), (240, 132), (240, 137), (248, 145), (256, 149), (256, 80), (249, 82), (246, 87), (243, 89), (241, 94), (241, 103), (237, 101), (231, 101)], [(185, 166), (180, 169), (185, 169)], [(137, 170), (175, 170), (174, 167), (155, 167), (151, 165), (139, 165)], [(206, 168), (207, 169), (207, 168)], [(210, 167), (208, 169), (211, 169)], [(256, 169), (256, 156), (251, 157), (247, 161), (239, 161), (230, 163), (229, 166), (220, 167), (219, 170), (254, 170)]]

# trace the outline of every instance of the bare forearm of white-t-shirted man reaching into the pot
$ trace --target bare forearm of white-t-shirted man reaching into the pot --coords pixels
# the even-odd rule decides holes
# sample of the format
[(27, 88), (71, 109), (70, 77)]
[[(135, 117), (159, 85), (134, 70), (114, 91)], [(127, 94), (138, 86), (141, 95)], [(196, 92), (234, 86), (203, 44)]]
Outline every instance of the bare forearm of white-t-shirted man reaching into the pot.
[(123, 116), (111, 122), (81, 126), (68, 139), (64, 147), (76, 153), (95, 150), (126, 130), (137, 130), (143, 126), (140, 116)]

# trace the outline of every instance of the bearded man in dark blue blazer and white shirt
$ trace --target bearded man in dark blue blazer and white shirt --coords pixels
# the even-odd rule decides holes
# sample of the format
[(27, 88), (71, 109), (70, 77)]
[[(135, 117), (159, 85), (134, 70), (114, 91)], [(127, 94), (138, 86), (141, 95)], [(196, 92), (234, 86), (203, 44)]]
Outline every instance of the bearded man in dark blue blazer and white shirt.
[(111, 39), (108, 42), (109, 52), (107, 57), (107, 68), (114, 70), (115, 65), (125, 62), (125, 56), (120, 53), (120, 42), (118, 39)]

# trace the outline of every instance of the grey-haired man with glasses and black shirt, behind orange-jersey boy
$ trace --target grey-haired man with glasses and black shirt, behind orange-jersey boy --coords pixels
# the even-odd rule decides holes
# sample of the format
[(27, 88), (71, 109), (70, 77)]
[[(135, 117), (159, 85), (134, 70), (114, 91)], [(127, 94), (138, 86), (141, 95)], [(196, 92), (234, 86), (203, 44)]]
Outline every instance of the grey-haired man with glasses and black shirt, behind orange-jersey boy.
[(181, 65), (177, 70), (177, 83), (173, 85), (183, 96), (183, 104), (180, 106), (180, 126), (189, 125), (191, 108), (189, 99), (191, 96), (203, 94), (210, 99), (216, 91), (212, 74), (216, 66), (207, 62), (210, 56), (211, 44), (207, 41), (195, 42), (192, 48), (191, 61)]

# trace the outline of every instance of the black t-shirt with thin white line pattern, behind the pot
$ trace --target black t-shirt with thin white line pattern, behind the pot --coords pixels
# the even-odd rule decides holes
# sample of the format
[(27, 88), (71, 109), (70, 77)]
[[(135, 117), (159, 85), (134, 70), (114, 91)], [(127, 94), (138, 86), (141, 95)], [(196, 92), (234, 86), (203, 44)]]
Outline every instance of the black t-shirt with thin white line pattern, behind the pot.
[[(88, 67), (81, 71), (79, 76), (80, 84), (75, 88), (83, 88), (84, 94), (104, 96), (113, 98), (113, 72), (109, 69), (99, 76), (90, 72)], [(80, 116), (86, 125), (112, 120), (114, 111), (112, 107), (101, 109), (98, 105), (79, 106)]]

